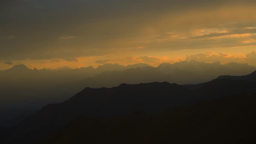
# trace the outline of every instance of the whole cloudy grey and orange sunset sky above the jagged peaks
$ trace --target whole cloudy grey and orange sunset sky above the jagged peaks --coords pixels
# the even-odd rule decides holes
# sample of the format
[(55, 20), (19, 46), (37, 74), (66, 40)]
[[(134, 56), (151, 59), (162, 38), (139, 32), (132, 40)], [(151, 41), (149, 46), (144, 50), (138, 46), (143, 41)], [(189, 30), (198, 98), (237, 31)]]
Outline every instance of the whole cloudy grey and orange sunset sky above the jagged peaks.
[(192, 59), (256, 66), (255, 7), (255, 0), (1, 0), (0, 70)]

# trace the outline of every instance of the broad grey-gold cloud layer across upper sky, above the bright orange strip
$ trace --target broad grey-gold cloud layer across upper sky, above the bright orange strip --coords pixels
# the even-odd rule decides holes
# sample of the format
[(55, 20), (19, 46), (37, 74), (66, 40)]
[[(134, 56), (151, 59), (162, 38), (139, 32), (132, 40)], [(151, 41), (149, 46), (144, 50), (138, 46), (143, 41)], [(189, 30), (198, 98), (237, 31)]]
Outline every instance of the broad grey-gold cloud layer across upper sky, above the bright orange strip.
[[(133, 52), (136, 46), (145, 46), (145, 51), (165, 51), (255, 45), (255, 42), (242, 43), (239, 38), (209, 39), (254, 34), (255, 29), (245, 27), (256, 26), (252, 14), (255, 3), (252, 0), (2, 0), (0, 59), (76, 58), (127, 48)], [(238, 10), (230, 8), (236, 5), (240, 6)], [(193, 29), (232, 30), (192, 36), (189, 33)], [(185, 39), (159, 37), (167, 32), (187, 34)], [(6, 34), (15, 38), (7, 38)]]

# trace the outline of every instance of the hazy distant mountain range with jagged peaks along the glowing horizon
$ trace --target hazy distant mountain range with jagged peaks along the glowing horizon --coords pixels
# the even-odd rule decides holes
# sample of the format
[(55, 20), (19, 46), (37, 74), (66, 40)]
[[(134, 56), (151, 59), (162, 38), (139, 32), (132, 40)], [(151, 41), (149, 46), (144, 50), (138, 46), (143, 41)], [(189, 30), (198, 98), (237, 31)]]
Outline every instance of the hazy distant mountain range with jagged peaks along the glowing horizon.
[[(71, 98), (85, 87), (111, 88), (121, 83), (137, 84), (149, 82), (170, 82), (186, 85), (188, 89), (198, 88), (221, 75), (246, 75), (256, 70), (248, 64), (203, 63), (181, 61), (175, 64), (163, 63), (158, 67), (148, 64), (123, 66), (104, 64), (97, 68), (63, 67), (55, 70), (29, 69), (25, 65), (15, 65), (0, 71), (0, 126), (16, 125), (31, 111), (41, 109), (46, 104), (60, 103)], [(197, 84), (197, 85), (192, 85)], [(8, 113), (7, 113), (8, 112)]]

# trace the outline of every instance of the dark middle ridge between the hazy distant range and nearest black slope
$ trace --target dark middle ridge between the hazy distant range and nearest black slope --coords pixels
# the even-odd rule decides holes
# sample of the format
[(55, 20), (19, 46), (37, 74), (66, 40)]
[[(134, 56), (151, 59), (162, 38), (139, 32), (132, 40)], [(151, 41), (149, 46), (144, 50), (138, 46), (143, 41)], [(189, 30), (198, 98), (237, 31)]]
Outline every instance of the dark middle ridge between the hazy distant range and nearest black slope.
[(251, 94), (256, 92), (255, 87), (256, 82), (214, 79), (195, 90), (168, 82), (121, 84), (113, 88), (85, 88), (69, 100), (47, 105), (25, 119), (11, 130), (8, 141), (34, 143), (81, 115), (107, 118), (129, 115), (134, 111), (156, 113), (176, 106), (191, 105), (196, 101)]

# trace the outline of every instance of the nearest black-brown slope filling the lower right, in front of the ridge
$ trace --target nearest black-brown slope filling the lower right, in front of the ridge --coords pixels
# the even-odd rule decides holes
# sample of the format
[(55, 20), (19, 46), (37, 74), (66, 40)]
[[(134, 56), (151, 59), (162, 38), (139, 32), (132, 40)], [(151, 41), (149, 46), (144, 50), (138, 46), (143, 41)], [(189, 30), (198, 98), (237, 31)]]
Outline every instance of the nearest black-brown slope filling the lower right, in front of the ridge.
[(80, 116), (39, 144), (256, 142), (256, 95), (201, 101), (160, 114), (137, 112), (118, 118)]

